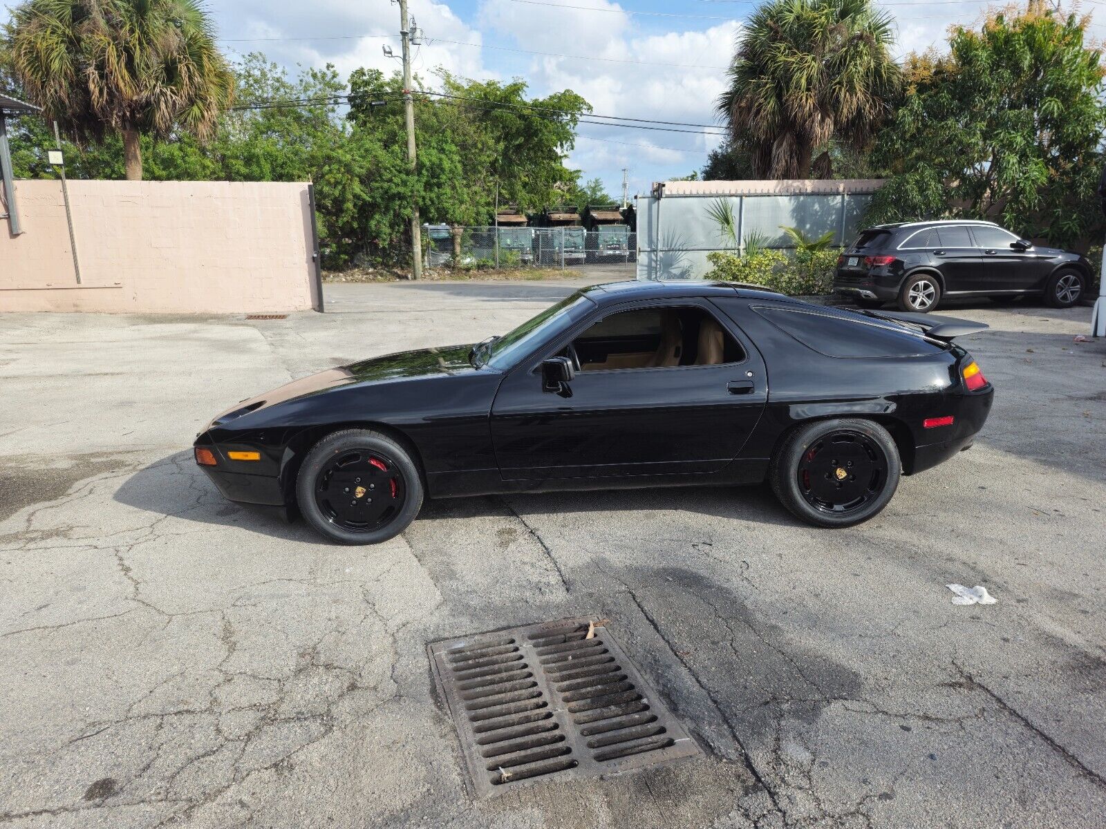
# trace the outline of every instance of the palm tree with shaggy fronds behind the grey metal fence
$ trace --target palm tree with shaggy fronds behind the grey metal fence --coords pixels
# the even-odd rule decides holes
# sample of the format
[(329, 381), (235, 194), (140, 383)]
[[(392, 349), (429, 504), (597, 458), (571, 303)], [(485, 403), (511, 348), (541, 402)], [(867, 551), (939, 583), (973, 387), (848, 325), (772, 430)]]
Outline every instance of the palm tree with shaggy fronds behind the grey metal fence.
[[(828, 147), (862, 148), (900, 71), (891, 19), (869, 0), (773, 0), (738, 34), (718, 111), (761, 178), (828, 178)], [(817, 159), (814, 153), (822, 149)]]

